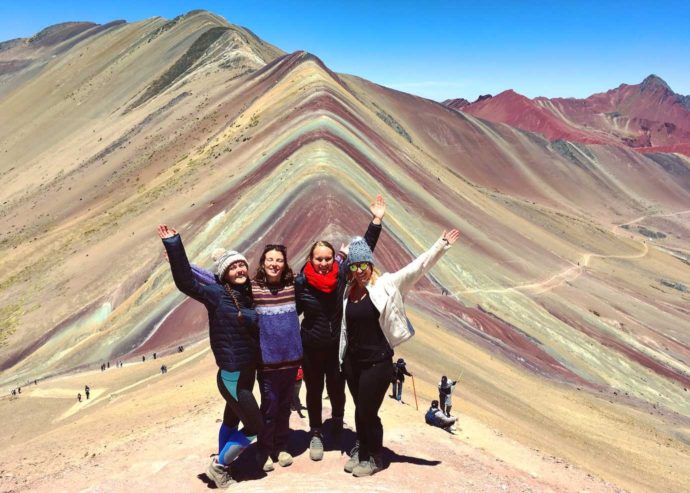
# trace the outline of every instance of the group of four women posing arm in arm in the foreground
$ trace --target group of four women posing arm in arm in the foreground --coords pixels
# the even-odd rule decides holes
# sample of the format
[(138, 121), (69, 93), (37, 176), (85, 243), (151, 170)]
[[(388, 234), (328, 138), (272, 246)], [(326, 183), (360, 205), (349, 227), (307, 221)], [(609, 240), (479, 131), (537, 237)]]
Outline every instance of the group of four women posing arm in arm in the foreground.
[[(254, 440), (264, 471), (272, 471), (276, 463), (292, 464), (287, 450), (289, 418), (300, 366), (311, 460), (323, 459), (324, 441), (340, 440), (347, 385), (355, 404), (357, 441), (344, 470), (361, 477), (383, 468), (378, 413), (391, 382), (394, 348), (414, 335), (403, 296), (460, 233), (444, 232), (407, 266), (379, 274), (373, 251), (385, 214), (381, 196), (370, 211), (373, 218), (363, 237), (339, 251), (328, 241), (315, 242), (297, 274), (289, 266), (287, 248), (267, 244), (251, 278), (241, 252), (214, 251), (215, 268), (210, 272), (190, 264), (175, 229), (158, 227), (175, 285), (208, 312), (216, 382), (226, 403), (218, 454), (207, 469), (217, 487), (234, 483), (229, 465)], [(260, 405), (252, 394), (255, 381)], [(322, 422), (324, 385), (331, 403), (327, 436)]]

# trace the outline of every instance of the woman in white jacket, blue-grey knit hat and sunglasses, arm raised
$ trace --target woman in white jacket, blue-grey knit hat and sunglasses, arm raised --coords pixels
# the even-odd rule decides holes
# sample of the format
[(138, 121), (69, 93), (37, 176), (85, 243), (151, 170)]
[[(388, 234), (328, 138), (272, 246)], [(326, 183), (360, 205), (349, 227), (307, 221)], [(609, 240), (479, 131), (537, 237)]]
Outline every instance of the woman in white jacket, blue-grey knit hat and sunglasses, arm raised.
[(374, 256), (366, 242), (355, 238), (350, 243), (339, 356), (355, 401), (358, 442), (345, 471), (356, 477), (371, 476), (383, 467), (383, 426), (378, 412), (390, 383), (393, 348), (414, 335), (403, 296), (459, 237), (456, 229), (444, 231), (406, 267), (381, 276), (374, 272)]

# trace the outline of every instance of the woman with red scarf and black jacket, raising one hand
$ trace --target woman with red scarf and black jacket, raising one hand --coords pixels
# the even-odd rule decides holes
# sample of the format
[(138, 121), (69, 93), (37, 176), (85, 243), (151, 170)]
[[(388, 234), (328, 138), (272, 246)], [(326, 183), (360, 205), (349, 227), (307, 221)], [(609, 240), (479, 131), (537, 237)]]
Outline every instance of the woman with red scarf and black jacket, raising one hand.
[[(374, 250), (381, 234), (381, 221), (386, 212), (383, 197), (378, 195), (369, 210), (372, 221), (364, 239)], [(297, 310), (304, 314), (302, 320), (302, 347), (304, 359), (304, 383), (307, 388), (307, 412), (309, 413), (309, 457), (323, 458), (321, 432), (324, 379), (331, 401), (333, 435), (339, 438), (345, 414), (345, 377), (340, 371), (338, 345), (340, 324), (343, 318), (343, 293), (347, 284), (346, 269), (340, 268), (343, 255), (336, 256), (333, 245), (317, 241), (309, 250), (307, 263), (295, 280)]]

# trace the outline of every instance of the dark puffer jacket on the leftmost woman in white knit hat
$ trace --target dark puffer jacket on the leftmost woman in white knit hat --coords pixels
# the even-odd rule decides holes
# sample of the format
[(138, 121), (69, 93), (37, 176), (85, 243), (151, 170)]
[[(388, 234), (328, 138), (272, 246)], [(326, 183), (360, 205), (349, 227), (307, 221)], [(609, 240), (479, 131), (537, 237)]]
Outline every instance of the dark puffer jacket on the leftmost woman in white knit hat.
[(194, 279), (180, 235), (163, 240), (177, 289), (206, 306), (211, 350), (219, 368), (239, 371), (256, 367), (259, 358), (259, 328), (252, 308), (249, 282), (232, 286), (244, 322), (237, 318), (237, 306), (221, 284), (203, 285)]

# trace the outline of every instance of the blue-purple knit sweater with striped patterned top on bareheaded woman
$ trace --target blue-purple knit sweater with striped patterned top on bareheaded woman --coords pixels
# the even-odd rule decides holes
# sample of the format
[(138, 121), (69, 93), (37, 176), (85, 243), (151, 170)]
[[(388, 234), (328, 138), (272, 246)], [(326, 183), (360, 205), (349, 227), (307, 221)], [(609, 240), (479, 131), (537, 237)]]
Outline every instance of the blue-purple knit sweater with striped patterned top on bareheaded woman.
[(264, 370), (293, 368), (302, 362), (302, 338), (295, 303), (295, 286), (269, 289), (252, 281), (259, 318), (259, 341)]

